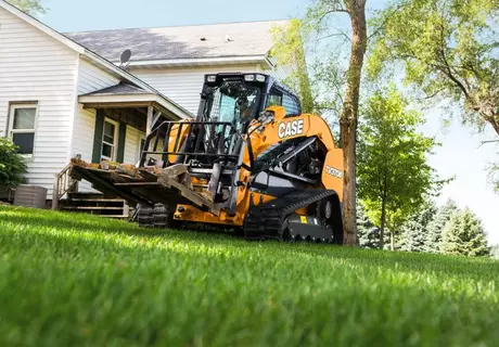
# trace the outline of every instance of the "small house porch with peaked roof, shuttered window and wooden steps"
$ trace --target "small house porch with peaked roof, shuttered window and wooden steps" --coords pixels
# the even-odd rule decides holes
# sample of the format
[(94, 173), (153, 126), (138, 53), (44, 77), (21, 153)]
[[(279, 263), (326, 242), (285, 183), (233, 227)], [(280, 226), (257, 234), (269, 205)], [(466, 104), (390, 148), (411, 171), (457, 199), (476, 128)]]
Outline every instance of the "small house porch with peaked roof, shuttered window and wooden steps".
[[(88, 163), (102, 160), (137, 165), (151, 130), (165, 120), (180, 120), (191, 115), (164, 97), (131, 85), (119, 83), (80, 95), (79, 117), (91, 128), (76, 129), (73, 157)], [(82, 119), (82, 118), (81, 118)], [(74, 140), (77, 142), (77, 140)], [(130, 207), (125, 201), (94, 190), (87, 181), (74, 181), (69, 165), (55, 178), (52, 209), (84, 211), (113, 218), (128, 218)]]

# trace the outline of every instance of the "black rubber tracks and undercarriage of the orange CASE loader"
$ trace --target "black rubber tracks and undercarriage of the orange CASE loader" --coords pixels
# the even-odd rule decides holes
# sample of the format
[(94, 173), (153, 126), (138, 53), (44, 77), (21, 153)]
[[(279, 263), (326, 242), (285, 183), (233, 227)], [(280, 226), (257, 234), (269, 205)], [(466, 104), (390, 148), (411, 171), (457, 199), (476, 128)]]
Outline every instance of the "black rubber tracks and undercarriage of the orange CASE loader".
[[(277, 240), (284, 242), (311, 242), (341, 244), (343, 239), (341, 217), (336, 215), (334, 192), (320, 189), (304, 190), (268, 203), (252, 206), (244, 226), (232, 228), (246, 240)], [(297, 209), (306, 209), (299, 215)], [(228, 226), (181, 222), (175, 219), (175, 206), (155, 204), (141, 206), (137, 220), (142, 228), (192, 229), (228, 231)]]

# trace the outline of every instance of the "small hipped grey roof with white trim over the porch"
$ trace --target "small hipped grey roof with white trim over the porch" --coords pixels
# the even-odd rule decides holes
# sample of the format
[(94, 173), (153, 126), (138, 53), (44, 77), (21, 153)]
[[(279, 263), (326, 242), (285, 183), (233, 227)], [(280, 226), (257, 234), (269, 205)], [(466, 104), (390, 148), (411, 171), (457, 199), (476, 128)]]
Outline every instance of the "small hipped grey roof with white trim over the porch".
[(168, 99), (158, 93), (152, 93), (140, 87), (120, 82), (103, 88), (78, 98), (84, 108), (128, 108), (153, 106), (170, 119), (188, 119), (192, 115), (177, 107)]

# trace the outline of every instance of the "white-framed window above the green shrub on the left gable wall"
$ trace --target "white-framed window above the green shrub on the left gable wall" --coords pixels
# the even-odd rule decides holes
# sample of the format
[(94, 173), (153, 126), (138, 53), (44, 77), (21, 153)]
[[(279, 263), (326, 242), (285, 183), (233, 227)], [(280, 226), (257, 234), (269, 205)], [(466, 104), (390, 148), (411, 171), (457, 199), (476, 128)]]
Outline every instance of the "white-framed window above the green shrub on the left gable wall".
[(10, 115), (10, 138), (20, 146), (20, 153), (25, 156), (33, 156), (35, 147), (35, 124), (37, 118), (36, 104), (11, 105)]

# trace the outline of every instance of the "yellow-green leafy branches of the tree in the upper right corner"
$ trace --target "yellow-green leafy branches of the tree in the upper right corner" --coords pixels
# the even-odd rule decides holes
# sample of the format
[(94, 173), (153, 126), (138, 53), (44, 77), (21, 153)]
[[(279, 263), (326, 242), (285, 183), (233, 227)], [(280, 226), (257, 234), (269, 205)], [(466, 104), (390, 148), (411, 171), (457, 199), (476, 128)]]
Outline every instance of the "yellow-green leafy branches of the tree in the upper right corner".
[(400, 62), (406, 82), (426, 98), (459, 104), (463, 123), (499, 134), (497, 0), (398, 0), (373, 23), (370, 76)]

